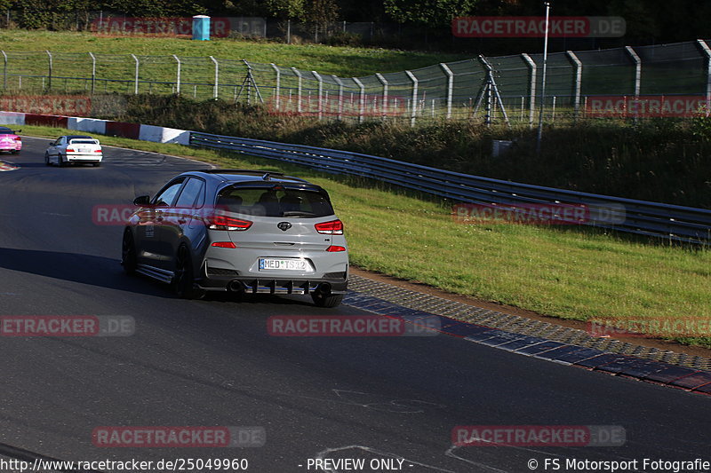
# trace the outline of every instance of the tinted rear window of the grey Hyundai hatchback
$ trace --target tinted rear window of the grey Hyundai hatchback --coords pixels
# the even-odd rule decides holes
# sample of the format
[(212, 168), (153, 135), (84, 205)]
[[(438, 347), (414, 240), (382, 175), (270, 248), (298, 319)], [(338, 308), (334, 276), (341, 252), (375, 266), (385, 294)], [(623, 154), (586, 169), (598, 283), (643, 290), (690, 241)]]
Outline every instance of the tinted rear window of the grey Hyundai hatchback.
[(228, 187), (218, 196), (216, 207), (261, 217), (326, 217), (333, 207), (324, 193), (302, 189), (273, 190), (269, 187)]

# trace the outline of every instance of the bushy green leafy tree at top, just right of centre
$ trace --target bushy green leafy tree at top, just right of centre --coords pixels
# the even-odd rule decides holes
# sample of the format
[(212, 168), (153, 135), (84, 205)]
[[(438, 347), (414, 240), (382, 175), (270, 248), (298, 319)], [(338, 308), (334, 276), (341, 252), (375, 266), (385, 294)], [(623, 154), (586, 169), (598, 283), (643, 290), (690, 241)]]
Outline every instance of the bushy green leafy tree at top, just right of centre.
[(451, 19), (470, 14), (476, 0), (385, 0), (385, 12), (398, 23), (447, 27)]

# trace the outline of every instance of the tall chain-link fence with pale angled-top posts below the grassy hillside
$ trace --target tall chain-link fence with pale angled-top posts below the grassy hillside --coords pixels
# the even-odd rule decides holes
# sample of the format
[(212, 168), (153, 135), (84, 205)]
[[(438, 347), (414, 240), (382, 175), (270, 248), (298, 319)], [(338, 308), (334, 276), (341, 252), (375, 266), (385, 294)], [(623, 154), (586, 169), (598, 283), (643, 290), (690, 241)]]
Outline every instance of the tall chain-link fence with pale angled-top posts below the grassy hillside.
[[(365, 77), (213, 57), (52, 51), (2, 54), (5, 94), (180, 93), (198, 100), (261, 103), (276, 114), (352, 121), (417, 122), (446, 117), (500, 122), (507, 118), (511, 123), (532, 125), (538, 121), (540, 106), (545, 107), (546, 121), (555, 122), (598, 117), (605, 111), (619, 116), (627, 113), (629, 99), (683, 96), (708, 100), (711, 94), (711, 50), (704, 40), (549, 54), (542, 103), (542, 54), (480, 56)], [(667, 106), (659, 103), (658, 108)], [(689, 111), (687, 106), (686, 115)]]

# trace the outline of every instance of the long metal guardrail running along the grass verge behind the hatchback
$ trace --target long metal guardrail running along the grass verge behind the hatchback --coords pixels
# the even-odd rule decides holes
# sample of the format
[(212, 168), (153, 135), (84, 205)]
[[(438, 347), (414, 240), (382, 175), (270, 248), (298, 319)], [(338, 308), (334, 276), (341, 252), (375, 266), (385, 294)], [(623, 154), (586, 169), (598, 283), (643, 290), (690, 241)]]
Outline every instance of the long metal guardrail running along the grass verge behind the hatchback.
[(192, 132), (190, 145), (226, 149), (335, 174), (370, 177), (458, 202), (495, 206), (585, 205), (591, 216), (586, 225), (686, 243), (708, 245), (711, 242), (711, 210), (707, 209), (519, 184), (368, 154), (259, 139)]

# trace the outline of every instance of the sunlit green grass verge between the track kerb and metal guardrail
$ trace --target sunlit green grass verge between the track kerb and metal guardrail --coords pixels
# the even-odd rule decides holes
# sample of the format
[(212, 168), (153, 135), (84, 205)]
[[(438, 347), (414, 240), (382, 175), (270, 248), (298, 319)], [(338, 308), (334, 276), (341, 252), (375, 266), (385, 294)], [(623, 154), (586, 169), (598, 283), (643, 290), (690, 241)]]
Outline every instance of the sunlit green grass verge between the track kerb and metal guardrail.
[[(22, 128), (42, 137), (66, 132)], [(563, 319), (711, 317), (707, 250), (589, 229), (460, 225), (443, 202), (354, 179), (179, 145), (110, 137), (101, 141), (231, 168), (283, 169), (323, 185), (346, 225), (351, 261), (365, 270)], [(711, 348), (709, 338), (680, 341)]]

